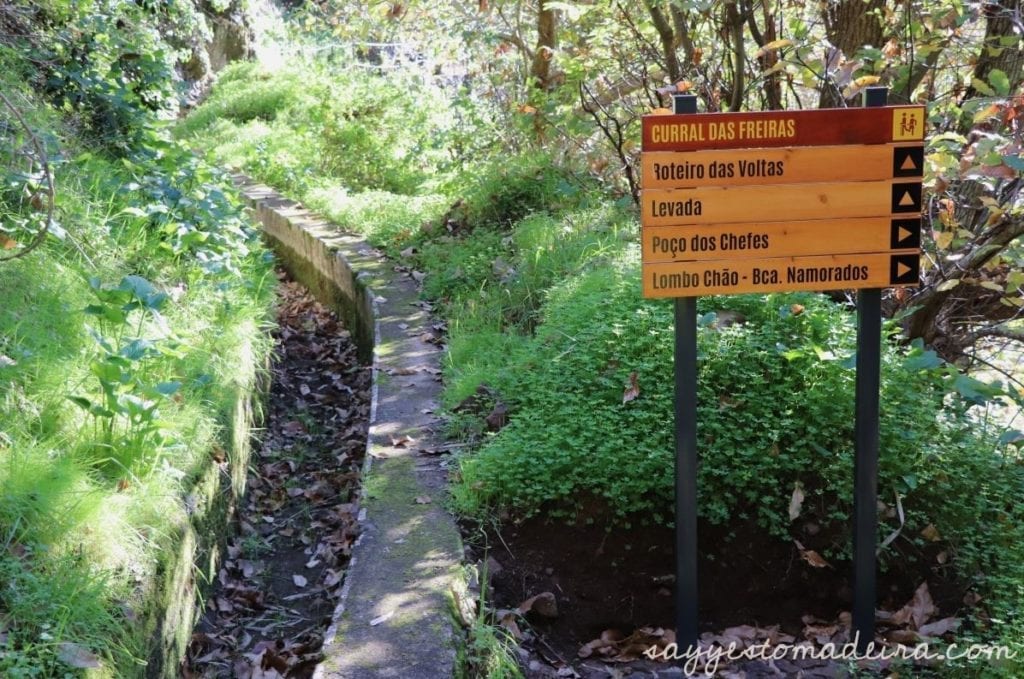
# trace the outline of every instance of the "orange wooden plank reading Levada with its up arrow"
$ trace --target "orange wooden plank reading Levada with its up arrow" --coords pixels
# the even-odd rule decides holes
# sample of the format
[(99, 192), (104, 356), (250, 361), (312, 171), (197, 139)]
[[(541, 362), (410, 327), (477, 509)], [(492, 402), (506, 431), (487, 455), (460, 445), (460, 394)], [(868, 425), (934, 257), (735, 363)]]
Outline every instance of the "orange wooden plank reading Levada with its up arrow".
[(674, 226), (920, 214), (921, 198), (920, 181), (645, 188), (641, 223)]

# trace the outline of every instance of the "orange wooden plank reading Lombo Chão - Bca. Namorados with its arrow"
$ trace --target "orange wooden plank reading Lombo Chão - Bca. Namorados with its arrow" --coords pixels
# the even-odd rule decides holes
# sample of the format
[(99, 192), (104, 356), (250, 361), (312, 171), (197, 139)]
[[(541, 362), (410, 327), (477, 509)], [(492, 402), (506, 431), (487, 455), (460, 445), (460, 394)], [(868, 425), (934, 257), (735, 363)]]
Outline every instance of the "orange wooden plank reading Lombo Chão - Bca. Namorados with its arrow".
[(694, 297), (918, 285), (916, 250), (643, 265), (643, 296)]

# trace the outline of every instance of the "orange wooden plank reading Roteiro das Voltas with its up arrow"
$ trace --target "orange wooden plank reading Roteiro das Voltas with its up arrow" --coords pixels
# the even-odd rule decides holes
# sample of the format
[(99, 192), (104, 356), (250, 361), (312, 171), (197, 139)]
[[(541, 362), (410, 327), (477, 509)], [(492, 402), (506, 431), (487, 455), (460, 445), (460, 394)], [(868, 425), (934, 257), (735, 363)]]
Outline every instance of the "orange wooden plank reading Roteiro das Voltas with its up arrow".
[(641, 165), (645, 188), (878, 181), (921, 177), (925, 147), (919, 143), (652, 152), (643, 154)]

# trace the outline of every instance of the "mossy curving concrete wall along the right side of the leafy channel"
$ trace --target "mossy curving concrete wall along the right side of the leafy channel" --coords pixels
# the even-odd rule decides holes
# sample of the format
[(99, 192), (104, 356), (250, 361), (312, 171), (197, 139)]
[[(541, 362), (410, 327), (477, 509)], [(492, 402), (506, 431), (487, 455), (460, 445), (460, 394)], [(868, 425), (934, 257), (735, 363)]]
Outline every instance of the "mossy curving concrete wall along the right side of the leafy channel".
[[(456, 672), (452, 596), (464, 589), (462, 541), (442, 508), (446, 472), (433, 413), (441, 351), (415, 282), (361, 238), (237, 176), (289, 273), (344, 320), (374, 367), (356, 542), (316, 679), (444, 679)], [(412, 440), (409, 440), (412, 439)]]

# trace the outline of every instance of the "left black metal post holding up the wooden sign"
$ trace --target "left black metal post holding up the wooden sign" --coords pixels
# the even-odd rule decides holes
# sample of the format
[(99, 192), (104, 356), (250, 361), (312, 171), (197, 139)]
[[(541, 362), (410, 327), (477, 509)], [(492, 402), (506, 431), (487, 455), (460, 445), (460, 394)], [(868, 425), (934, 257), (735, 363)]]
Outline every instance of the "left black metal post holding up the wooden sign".
[[(697, 97), (677, 94), (677, 114), (697, 112)], [(697, 299), (676, 300), (676, 643), (697, 644)]]

